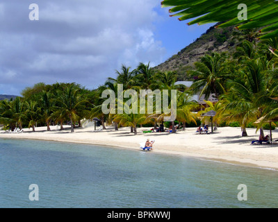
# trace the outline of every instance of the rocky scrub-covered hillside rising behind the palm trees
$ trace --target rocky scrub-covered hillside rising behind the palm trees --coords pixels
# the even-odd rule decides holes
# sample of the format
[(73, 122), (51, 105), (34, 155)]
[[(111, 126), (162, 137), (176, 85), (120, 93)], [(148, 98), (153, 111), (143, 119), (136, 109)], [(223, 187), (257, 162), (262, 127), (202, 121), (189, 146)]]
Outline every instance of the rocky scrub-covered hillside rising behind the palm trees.
[(187, 75), (187, 70), (193, 69), (195, 67), (194, 63), (206, 53), (234, 51), (237, 42), (232, 37), (233, 31), (234, 27), (214, 28), (214, 26), (211, 26), (195, 42), (181, 49), (179, 53), (154, 67), (154, 69), (158, 71), (177, 71), (179, 81), (193, 80), (191, 76)]

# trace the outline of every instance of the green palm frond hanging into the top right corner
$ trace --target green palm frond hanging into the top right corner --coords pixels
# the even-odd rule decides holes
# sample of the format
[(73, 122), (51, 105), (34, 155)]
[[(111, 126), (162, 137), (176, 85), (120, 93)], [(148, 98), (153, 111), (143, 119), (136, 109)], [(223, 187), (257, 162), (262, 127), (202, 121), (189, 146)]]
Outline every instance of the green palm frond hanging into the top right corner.
[[(192, 24), (207, 24), (224, 22), (217, 28), (236, 26), (238, 29), (262, 28), (260, 39), (268, 39), (278, 35), (278, 2), (275, 0), (246, 0), (247, 21), (238, 19), (238, 5), (241, 0), (165, 0), (162, 7), (172, 7), (169, 12), (175, 13), (170, 16), (179, 16), (179, 20), (193, 19)], [(228, 22), (227, 22), (228, 21)], [(265, 27), (267, 26), (267, 27)], [(267, 33), (270, 32), (270, 33)]]

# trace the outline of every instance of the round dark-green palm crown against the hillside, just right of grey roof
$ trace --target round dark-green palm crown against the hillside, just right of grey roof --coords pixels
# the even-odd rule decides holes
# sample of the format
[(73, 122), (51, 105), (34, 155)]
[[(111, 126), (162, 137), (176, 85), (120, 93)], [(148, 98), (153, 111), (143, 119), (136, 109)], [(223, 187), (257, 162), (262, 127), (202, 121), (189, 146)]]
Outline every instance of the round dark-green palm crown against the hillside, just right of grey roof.
[(212, 53), (201, 58), (201, 62), (195, 62), (196, 70), (190, 71), (194, 76), (198, 76), (197, 80), (191, 85), (193, 92), (200, 92), (200, 97), (204, 94), (205, 99), (215, 94), (216, 98), (223, 94), (226, 90), (224, 83), (228, 78), (225, 72), (224, 54)]

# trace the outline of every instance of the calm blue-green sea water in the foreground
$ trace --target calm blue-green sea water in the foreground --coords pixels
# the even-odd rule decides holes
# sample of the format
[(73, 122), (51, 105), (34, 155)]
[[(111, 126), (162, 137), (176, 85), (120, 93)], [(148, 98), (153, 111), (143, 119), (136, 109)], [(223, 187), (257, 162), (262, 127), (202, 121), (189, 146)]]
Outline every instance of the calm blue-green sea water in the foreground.
[[(29, 185), (38, 185), (38, 201)], [(238, 200), (238, 185), (247, 200)], [(0, 139), (0, 207), (278, 207), (278, 171), (154, 152)]]

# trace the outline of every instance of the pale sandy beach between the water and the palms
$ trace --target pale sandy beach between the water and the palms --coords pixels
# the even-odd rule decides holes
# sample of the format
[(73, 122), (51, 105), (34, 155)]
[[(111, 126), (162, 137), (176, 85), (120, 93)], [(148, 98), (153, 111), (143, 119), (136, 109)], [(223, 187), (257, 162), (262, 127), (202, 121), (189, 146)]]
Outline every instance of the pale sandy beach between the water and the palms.
[[(250, 145), (252, 140), (259, 138), (259, 131), (254, 128), (247, 129), (247, 137), (241, 137), (240, 128), (218, 128), (213, 134), (195, 135), (196, 128), (187, 128), (177, 133), (142, 133), (142, 130), (150, 128), (138, 128), (138, 135), (130, 133), (130, 128), (120, 128), (115, 131), (108, 127), (107, 130), (95, 131), (94, 128), (76, 128), (70, 133), (70, 126), (64, 126), (65, 130), (57, 130), (51, 126), (47, 132), (46, 127), (24, 129), (24, 133), (3, 133), (0, 138), (16, 139), (41, 139), (57, 142), (74, 142), (82, 144), (97, 144), (101, 146), (113, 146), (116, 148), (131, 148), (140, 151), (139, 143), (146, 139), (154, 139), (155, 153), (170, 155), (184, 155), (210, 160), (218, 160), (234, 164), (252, 167), (278, 169), (278, 144)], [(265, 135), (270, 133), (264, 130)], [(272, 130), (273, 141), (278, 139), (278, 130)]]

